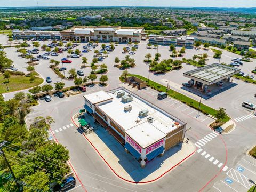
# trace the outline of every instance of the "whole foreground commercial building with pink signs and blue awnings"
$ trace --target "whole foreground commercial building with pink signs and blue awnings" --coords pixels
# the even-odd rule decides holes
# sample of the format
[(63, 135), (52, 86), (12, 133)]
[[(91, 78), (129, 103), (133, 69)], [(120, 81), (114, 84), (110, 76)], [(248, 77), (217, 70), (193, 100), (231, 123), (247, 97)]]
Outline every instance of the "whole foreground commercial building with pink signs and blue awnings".
[(186, 123), (122, 88), (84, 95), (85, 109), (137, 159), (141, 167), (182, 144)]

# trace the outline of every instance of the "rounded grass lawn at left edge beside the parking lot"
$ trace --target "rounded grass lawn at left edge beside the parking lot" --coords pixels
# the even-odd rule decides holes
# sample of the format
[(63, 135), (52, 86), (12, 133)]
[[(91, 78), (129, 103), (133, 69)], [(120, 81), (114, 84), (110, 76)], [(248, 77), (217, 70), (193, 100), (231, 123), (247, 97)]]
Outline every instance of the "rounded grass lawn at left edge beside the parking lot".
[(28, 89), (30, 87), (37, 86), (43, 83), (43, 79), (36, 77), (34, 82), (30, 82), (30, 77), (25, 77), (21, 75), (11, 75), (9, 78), (9, 83), (7, 83), (9, 87), (9, 91), (6, 91), (6, 85), (4, 83), (3, 75), (0, 75), (0, 94), (7, 93), (12, 91), (18, 91), (23, 89)]

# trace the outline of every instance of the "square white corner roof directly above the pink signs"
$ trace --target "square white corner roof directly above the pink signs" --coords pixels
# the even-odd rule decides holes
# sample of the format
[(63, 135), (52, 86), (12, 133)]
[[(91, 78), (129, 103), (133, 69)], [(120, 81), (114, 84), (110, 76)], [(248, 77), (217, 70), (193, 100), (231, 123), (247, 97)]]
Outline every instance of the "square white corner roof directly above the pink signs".
[(143, 122), (125, 132), (144, 149), (166, 137), (166, 134), (149, 122)]

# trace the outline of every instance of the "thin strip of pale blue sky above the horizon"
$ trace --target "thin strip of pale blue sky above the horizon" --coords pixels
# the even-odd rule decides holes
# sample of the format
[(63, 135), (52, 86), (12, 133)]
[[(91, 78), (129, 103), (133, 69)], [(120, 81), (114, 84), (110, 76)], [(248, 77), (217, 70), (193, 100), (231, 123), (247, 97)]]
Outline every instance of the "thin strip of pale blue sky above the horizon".
[(0, 7), (26, 6), (256, 7), (256, 0), (0, 0)]

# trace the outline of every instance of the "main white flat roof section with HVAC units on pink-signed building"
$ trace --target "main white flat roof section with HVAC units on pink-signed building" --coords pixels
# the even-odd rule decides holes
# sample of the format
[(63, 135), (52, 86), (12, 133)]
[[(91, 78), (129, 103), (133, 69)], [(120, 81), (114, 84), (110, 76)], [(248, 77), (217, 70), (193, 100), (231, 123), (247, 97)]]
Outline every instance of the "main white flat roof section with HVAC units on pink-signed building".
[[(129, 94), (125, 90), (123, 91), (125, 92), (125, 94)], [(166, 134), (177, 128), (177, 126), (173, 126), (173, 124), (175, 123), (174, 119), (165, 115), (161, 111), (151, 107), (147, 103), (143, 102), (142, 99), (133, 97), (133, 101), (123, 103), (121, 101), (121, 98), (117, 98), (116, 94), (113, 94), (111, 92), (108, 93), (108, 95), (109, 97), (113, 97), (112, 102), (108, 102), (102, 105), (100, 105), (99, 103), (98, 107), (106, 115), (113, 119), (113, 121), (115, 121), (119, 126), (121, 126), (124, 131), (129, 130), (132, 127), (137, 126), (138, 124), (141, 124), (143, 122), (147, 122), (148, 116), (154, 118), (154, 122), (151, 124), (156, 127), (156, 131), (159, 130)], [(130, 112), (124, 111), (124, 107), (128, 105), (132, 106), (132, 110)], [(148, 116), (143, 118), (139, 117), (139, 111), (141, 110), (148, 110)]]

